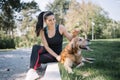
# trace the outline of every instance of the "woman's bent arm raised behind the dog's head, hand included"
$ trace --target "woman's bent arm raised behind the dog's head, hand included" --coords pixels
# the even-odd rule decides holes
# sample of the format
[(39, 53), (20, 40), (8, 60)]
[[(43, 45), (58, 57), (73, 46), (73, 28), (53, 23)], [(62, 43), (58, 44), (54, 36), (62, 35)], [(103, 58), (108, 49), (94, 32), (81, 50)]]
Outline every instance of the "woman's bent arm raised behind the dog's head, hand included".
[(66, 30), (66, 28), (65, 28), (63, 25), (60, 25), (59, 28), (60, 28), (60, 29), (59, 29), (59, 30), (60, 30), (60, 33), (63, 34), (69, 41), (71, 41), (72, 38), (75, 37), (75, 36), (77, 36), (77, 35), (79, 34), (79, 32), (80, 32), (80, 30), (75, 29), (75, 30), (72, 31), (72, 34), (71, 34), (71, 33), (69, 33), (69, 32)]

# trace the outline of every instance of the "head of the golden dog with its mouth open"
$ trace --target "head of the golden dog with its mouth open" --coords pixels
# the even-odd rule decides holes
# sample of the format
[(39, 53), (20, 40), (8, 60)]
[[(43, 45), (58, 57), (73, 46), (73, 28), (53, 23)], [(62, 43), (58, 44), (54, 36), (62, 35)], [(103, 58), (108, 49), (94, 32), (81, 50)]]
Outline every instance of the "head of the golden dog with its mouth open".
[(72, 39), (71, 41), (71, 47), (72, 49), (86, 49), (89, 50), (90, 48), (88, 47), (89, 44), (89, 40), (88, 39), (84, 39), (83, 37), (75, 37)]

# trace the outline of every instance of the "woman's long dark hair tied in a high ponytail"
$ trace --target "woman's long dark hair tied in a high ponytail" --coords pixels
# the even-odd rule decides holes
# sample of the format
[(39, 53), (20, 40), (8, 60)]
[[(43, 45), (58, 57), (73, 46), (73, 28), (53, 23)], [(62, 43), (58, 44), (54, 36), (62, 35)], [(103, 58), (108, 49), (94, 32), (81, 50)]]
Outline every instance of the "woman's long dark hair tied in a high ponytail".
[(38, 22), (36, 24), (36, 35), (39, 36), (40, 30), (43, 29), (44, 26), (44, 22), (43, 20), (46, 20), (48, 16), (50, 15), (54, 15), (53, 12), (51, 11), (45, 11), (45, 12), (41, 12), (38, 16)]

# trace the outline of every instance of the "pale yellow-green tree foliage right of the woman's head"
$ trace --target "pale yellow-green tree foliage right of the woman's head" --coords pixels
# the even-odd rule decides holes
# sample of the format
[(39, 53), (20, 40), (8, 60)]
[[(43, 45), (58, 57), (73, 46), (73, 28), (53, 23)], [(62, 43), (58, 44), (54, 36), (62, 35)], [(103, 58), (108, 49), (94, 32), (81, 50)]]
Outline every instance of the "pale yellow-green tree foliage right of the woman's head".
[[(65, 5), (67, 1), (69, 2)], [(67, 9), (63, 7), (67, 5)], [(91, 1), (82, 0), (80, 3), (76, 0), (55, 0), (53, 3), (49, 3), (47, 9), (57, 15), (58, 23), (62, 18), (68, 31), (79, 28), (82, 36), (91, 39), (93, 26), (95, 39), (119, 38), (120, 22), (110, 19), (109, 13)]]

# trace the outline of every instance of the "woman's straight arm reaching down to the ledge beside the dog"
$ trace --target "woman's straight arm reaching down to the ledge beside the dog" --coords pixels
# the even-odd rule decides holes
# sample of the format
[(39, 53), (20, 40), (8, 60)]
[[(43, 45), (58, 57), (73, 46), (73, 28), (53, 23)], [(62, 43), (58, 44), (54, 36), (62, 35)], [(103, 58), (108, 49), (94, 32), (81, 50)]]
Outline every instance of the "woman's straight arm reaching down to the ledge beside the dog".
[(59, 61), (58, 55), (48, 46), (43, 30), (40, 31), (40, 36), (45, 49)]

